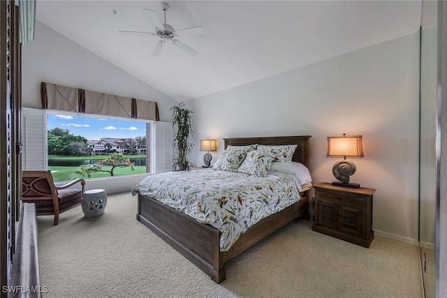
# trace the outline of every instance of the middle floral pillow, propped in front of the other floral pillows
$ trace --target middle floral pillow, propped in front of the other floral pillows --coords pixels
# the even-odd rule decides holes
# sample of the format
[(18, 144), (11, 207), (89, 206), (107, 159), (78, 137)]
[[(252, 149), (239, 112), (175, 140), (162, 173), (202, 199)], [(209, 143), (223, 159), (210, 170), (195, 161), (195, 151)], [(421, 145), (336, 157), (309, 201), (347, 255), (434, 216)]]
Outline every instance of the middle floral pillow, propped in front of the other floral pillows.
[(237, 172), (265, 177), (270, 165), (272, 165), (274, 156), (270, 150), (249, 151)]

